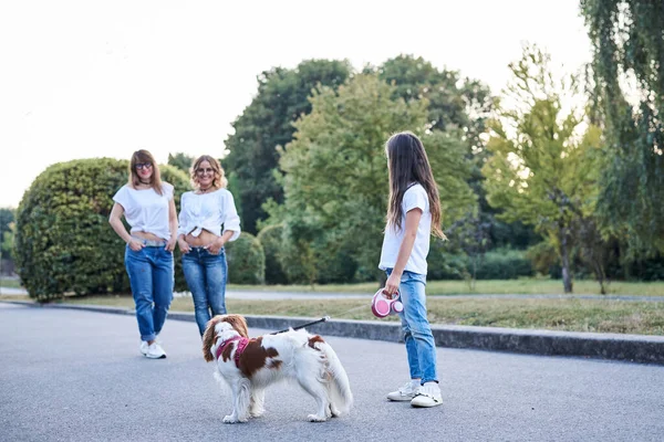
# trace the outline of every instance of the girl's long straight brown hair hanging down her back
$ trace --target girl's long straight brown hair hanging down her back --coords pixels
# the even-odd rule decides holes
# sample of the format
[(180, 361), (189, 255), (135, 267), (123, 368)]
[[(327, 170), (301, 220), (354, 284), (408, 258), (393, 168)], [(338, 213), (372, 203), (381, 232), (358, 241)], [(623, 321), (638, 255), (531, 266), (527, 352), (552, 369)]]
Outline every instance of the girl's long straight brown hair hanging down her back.
[(434, 180), (432, 166), (424, 150), (424, 145), (411, 131), (394, 134), (385, 144), (387, 165), (390, 168), (390, 202), (387, 204), (387, 228), (402, 229), (404, 215), (402, 201), (404, 193), (414, 183), (426, 190), (432, 212), (432, 233), (445, 239), (440, 228), (440, 197), (438, 185)]

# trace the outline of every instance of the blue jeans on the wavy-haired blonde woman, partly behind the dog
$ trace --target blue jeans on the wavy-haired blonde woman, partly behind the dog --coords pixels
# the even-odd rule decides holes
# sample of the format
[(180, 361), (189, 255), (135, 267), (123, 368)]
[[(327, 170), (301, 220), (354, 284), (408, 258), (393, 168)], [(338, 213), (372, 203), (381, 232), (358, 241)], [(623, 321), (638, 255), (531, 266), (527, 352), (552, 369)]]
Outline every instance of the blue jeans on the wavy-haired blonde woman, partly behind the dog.
[(228, 264), (224, 248), (217, 255), (204, 248), (191, 248), (189, 253), (183, 254), (183, 272), (194, 298), (198, 332), (203, 336), (212, 316), (226, 314)]

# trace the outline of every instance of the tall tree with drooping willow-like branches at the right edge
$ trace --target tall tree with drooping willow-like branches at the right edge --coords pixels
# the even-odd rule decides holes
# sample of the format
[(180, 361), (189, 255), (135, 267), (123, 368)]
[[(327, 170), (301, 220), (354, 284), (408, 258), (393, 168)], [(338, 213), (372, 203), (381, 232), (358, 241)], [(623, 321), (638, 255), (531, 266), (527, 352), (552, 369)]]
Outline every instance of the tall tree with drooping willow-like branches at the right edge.
[(631, 254), (664, 252), (664, 2), (581, 0), (606, 138), (598, 210)]

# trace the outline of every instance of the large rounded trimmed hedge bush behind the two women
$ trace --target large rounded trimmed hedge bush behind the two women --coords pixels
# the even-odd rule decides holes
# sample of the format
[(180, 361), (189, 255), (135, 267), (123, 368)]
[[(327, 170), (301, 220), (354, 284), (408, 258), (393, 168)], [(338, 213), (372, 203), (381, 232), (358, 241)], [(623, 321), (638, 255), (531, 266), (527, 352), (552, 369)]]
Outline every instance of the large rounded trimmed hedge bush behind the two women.
[[(160, 171), (175, 186), (179, 210), (189, 180), (169, 166)], [(35, 178), (17, 210), (14, 242), (17, 272), (32, 298), (131, 293), (125, 243), (108, 224), (113, 196), (127, 177), (127, 160), (94, 158), (55, 164)], [(181, 286), (177, 256), (175, 261)]]

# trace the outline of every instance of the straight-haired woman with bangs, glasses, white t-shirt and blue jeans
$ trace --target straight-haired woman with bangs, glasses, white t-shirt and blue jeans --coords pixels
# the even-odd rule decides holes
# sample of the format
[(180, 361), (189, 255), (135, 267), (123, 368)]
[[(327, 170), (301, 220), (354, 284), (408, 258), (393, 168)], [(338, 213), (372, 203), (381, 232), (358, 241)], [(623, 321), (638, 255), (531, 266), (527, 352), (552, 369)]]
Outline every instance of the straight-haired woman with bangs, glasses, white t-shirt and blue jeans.
[(149, 359), (162, 359), (166, 351), (157, 343), (157, 335), (173, 301), (173, 250), (177, 241), (173, 186), (162, 181), (153, 156), (137, 150), (129, 162), (129, 180), (113, 200), (108, 222), (127, 243), (125, 269), (136, 304), (141, 352)]

